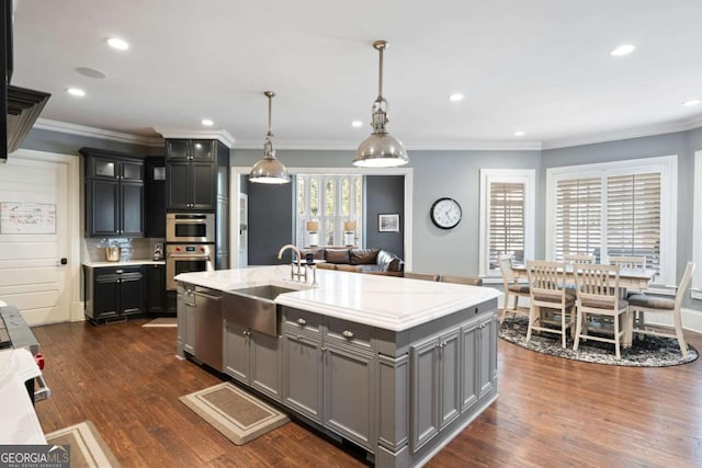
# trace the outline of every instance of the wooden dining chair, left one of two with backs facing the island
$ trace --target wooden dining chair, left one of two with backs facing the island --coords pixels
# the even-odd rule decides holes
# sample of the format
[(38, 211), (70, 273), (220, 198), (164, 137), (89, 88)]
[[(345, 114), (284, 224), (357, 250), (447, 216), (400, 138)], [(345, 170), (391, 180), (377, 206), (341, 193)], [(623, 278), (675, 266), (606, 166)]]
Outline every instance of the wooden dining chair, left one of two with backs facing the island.
[[(575, 293), (566, 288), (566, 263), (526, 261), (531, 308), (526, 341), (535, 331), (558, 333), (566, 347), (566, 333), (575, 323)], [(544, 313), (548, 309), (550, 313)]]

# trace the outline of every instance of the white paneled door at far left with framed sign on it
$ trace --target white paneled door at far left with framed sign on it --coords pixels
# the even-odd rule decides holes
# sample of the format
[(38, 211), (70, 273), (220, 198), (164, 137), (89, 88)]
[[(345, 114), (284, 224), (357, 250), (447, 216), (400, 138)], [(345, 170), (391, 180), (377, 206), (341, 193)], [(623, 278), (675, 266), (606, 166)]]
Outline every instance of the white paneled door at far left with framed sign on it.
[(0, 300), (30, 326), (68, 321), (68, 164), (16, 155), (0, 164)]

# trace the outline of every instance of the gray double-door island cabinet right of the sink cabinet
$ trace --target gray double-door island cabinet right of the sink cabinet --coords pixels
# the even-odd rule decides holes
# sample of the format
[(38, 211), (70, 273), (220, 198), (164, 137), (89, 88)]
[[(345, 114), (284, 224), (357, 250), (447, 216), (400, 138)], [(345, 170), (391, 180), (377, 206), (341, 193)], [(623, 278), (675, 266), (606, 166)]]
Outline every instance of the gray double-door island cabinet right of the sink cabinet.
[(353, 343), (351, 330), (346, 330), (347, 343), (329, 339), (327, 333), (333, 330), (333, 322), (335, 319), (325, 318), (321, 334), (306, 332), (306, 323), (301, 323), (299, 329), (283, 327), (283, 402), (336, 434), (373, 450), (376, 358), (366, 346)]

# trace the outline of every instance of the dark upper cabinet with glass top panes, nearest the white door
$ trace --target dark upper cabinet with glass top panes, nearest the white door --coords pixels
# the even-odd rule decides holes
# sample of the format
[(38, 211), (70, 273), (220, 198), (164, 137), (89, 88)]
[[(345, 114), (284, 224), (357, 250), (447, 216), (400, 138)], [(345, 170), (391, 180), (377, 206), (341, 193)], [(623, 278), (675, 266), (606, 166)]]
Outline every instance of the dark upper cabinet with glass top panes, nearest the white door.
[(86, 157), (86, 236), (144, 237), (144, 160), (95, 148)]

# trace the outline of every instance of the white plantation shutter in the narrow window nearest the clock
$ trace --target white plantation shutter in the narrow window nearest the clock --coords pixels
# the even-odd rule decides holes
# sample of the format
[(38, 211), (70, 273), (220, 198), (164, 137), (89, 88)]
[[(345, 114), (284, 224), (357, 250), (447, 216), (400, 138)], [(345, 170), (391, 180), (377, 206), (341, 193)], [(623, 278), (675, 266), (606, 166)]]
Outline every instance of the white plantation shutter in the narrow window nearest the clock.
[(499, 255), (524, 259), (526, 186), (523, 182), (492, 182), (489, 191), (489, 262), (494, 270)]

